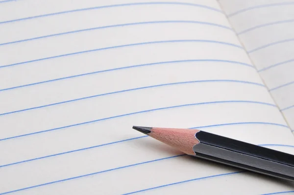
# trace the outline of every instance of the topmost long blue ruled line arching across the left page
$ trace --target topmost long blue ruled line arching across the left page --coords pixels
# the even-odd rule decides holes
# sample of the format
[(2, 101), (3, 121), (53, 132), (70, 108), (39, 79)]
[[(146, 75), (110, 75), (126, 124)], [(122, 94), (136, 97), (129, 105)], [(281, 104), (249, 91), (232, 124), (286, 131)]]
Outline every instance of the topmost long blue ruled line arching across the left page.
[(140, 2), (140, 3), (124, 3), (124, 4), (104, 5), (104, 6), (97, 6), (97, 7), (88, 7), (88, 8), (82, 8), (82, 9), (67, 10), (67, 11), (62, 11), (62, 12), (55, 12), (55, 13), (50, 13), (50, 14), (31, 16), (31, 17), (20, 18), (20, 19), (15, 19), (15, 20), (2, 21), (2, 22), (0, 22), (0, 24), (12, 23), (12, 22), (24, 21), (24, 20), (30, 20), (30, 19), (35, 19), (35, 18), (43, 18), (43, 17), (47, 17), (47, 16), (54, 16), (54, 15), (73, 13), (73, 12), (79, 12), (79, 11), (87, 11), (87, 10), (103, 9), (103, 8), (111, 8), (111, 7), (134, 6), (134, 5), (186, 5), (186, 6), (201, 7), (201, 8), (205, 8), (205, 9), (209, 9), (209, 10), (213, 10), (213, 11), (217, 11), (217, 12), (222, 13), (222, 11), (219, 10), (219, 9), (215, 9), (213, 7), (209, 7), (209, 6), (201, 5), (201, 4), (195, 4), (195, 3), (185, 3), (185, 2)]

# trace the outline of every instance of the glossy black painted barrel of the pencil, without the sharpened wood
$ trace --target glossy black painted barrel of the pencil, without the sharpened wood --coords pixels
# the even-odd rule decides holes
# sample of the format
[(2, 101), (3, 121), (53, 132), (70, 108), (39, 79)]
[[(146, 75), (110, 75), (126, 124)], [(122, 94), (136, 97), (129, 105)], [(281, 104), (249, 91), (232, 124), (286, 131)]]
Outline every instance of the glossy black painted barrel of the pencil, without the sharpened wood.
[(294, 155), (200, 131), (197, 157), (294, 181)]

